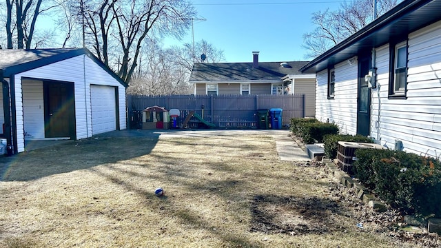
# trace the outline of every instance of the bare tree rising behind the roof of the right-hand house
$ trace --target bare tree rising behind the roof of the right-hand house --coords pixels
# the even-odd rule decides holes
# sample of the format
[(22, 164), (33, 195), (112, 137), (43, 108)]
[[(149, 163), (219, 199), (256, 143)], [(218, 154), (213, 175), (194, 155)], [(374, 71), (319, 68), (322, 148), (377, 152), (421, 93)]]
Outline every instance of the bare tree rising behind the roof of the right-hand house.
[[(397, 0), (378, 1), (378, 15), (384, 14), (394, 6)], [(303, 35), (302, 47), (309, 52), (306, 58), (312, 59), (351, 36), (373, 20), (373, 1), (354, 0), (342, 3), (336, 11), (318, 11), (312, 14), (311, 21), (316, 28)]]

